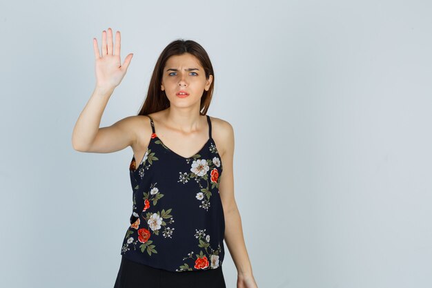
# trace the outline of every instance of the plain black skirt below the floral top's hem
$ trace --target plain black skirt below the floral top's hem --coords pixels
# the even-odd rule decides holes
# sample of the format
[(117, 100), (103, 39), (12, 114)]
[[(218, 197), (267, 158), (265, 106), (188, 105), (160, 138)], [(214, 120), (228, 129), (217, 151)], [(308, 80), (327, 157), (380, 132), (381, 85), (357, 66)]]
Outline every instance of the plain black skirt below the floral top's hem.
[(222, 266), (200, 271), (168, 271), (121, 257), (114, 288), (226, 288)]

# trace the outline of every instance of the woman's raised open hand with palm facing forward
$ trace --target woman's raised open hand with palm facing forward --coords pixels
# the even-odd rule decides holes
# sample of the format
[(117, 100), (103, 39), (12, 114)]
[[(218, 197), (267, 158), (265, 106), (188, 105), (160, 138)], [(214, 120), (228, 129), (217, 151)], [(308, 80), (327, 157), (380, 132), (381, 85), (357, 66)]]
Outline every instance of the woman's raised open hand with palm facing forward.
[[(117, 87), (121, 79), (123, 79), (128, 70), (130, 59), (133, 54), (130, 53), (124, 59), (121, 65), (120, 59), (120, 31), (115, 35), (115, 49), (112, 49), (112, 30), (108, 28), (108, 43), (106, 41), (106, 31), (102, 31), (102, 55), (99, 53), (99, 46), (97, 39), (93, 38), (93, 48), (95, 48), (95, 73), (96, 73), (96, 86), (104, 89), (114, 89)], [(114, 52), (114, 54), (112, 53)]]

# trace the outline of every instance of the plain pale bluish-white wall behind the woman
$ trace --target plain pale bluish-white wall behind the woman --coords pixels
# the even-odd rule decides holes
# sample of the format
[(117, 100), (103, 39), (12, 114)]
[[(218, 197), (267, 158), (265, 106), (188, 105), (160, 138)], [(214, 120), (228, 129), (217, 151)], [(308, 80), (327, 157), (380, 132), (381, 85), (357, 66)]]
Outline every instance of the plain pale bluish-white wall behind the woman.
[[(429, 1), (3, 1), (0, 286), (112, 287), (132, 149), (79, 153), (92, 38), (134, 57), (101, 126), (136, 115), (161, 50), (204, 46), (235, 129), (259, 288), (432, 285)], [(226, 250), (224, 275), (235, 288)]]

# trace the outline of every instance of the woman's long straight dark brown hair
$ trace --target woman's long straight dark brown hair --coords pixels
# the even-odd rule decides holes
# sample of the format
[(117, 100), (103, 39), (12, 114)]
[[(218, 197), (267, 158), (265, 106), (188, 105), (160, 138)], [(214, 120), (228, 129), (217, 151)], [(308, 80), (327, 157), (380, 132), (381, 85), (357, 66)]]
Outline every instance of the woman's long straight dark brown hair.
[(165, 91), (161, 90), (162, 73), (164, 72), (164, 67), (169, 57), (174, 55), (183, 55), (184, 53), (189, 53), (197, 57), (199, 64), (201, 64), (201, 66), (204, 68), (206, 79), (208, 79), (210, 75), (213, 75), (213, 81), (210, 84), (210, 88), (208, 88), (208, 91), (204, 90), (201, 97), (201, 104), (199, 106), (199, 114), (206, 115), (208, 106), (210, 106), (213, 95), (213, 87), (215, 84), (213, 66), (206, 50), (204, 50), (201, 45), (197, 44), (197, 42), (193, 40), (184, 39), (172, 41), (170, 44), (168, 44), (168, 46), (166, 46), (166, 48), (164, 48), (164, 50), (161, 52), (161, 55), (159, 55), (155, 69), (153, 70), (152, 78), (150, 79), (147, 97), (138, 115), (147, 115), (164, 110), (170, 106), (170, 102), (168, 97), (166, 97)]

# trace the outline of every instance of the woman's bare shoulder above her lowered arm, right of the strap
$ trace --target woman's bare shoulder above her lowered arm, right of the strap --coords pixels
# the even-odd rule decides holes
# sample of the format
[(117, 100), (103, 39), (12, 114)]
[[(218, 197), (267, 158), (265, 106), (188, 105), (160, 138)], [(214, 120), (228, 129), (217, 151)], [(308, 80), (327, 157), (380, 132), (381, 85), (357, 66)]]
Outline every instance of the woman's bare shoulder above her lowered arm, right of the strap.
[(234, 150), (234, 128), (226, 120), (211, 117), (212, 137), (215, 140), (217, 150), (224, 155), (227, 151), (233, 153)]

